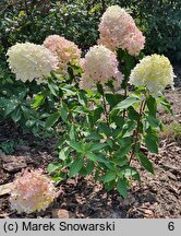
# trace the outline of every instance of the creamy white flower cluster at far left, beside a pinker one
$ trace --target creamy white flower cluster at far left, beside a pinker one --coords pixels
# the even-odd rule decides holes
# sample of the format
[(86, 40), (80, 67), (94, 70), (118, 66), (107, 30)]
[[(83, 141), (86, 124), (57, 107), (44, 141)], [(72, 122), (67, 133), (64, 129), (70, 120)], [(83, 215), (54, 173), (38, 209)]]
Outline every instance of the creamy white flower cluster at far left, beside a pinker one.
[(37, 84), (46, 83), (50, 72), (57, 69), (58, 59), (50, 50), (41, 45), (32, 43), (15, 44), (8, 54), (9, 66), (16, 80), (32, 82), (36, 79)]

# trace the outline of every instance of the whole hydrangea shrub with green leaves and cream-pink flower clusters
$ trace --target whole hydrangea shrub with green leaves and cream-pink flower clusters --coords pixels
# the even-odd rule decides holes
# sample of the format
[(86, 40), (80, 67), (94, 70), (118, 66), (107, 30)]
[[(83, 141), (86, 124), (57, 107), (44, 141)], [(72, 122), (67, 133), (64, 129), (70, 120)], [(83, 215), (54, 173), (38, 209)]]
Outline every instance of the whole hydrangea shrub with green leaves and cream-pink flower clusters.
[[(144, 57), (141, 50), (145, 37), (124, 9), (108, 8), (100, 20), (99, 32), (98, 45), (90, 47), (82, 59), (74, 43), (51, 35), (44, 46), (26, 43), (27, 48), (21, 45), (15, 49), (17, 58), (23, 54), (24, 69), (29, 73), (22, 71), (21, 59), (17, 62), (13, 59), (13, 47), (8, 52), (9, 62), (21, 80), (47, 83), (47, 88), (35, 97), (35, 109), (47, 107), (47, 101), (53, 97), (53, 110), (46, 127), (61, 130), (57, 142), (60, 162), (51, 163), (49, 173), (59, 181), (92, 174), (107, 190), (117, 189), (125, 198), (132, 180), (141, 181), (133, 160), (154, 174), (154, 166), (142, 146), (158, 153), (157, 133), (161, 121), (157, 117), (157, 104), (171, 113), (164, 90), (167, 85), (173, 87), (174, 74), (165, 56)], [(34, 55), (37, 48), (38, 54)], [(28, 78), (25, 79), (25, 74)], [(23, 182), (31, 185), (28, 179)], [(35, 190), (36, 187), (27, 189), (28, 198)], [(21, 185), (16, 185), (16, 191), (21, 191)], [(17, 198), (21, 204), (23, 194)], [(34, 202), (34, 210), (41, 208), (40, 201), (46, 205), (49, 202), (40, 198), (38, 206)], [(16, 200), (12, 202), (17, 209)]]

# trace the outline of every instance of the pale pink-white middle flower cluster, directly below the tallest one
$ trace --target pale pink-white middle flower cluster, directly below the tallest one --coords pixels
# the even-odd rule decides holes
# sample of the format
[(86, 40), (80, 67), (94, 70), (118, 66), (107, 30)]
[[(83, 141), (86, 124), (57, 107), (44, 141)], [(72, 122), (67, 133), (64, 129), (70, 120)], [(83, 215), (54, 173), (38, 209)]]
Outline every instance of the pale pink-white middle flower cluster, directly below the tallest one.
[(105, 84), (114, 79), (121, 83), (122, 74), (118, 70), (116, 55), (105, 46), (94, 46), (85, 55), (82, 61), (83, 76), (81, 87), (89, 90), (96, 83)]

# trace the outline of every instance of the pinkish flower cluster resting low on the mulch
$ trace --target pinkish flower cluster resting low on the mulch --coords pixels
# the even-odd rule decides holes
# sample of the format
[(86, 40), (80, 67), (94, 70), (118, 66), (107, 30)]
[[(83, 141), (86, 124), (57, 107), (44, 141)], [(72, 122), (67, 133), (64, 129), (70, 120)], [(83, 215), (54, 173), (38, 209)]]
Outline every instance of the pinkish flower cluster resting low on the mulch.
[(56, 198), (52, 181), (43, 175), (43, 170), (25, 170), (14, 180), (11, 191), (11, 208), (17, 212), (31, 213), (45, 210)]

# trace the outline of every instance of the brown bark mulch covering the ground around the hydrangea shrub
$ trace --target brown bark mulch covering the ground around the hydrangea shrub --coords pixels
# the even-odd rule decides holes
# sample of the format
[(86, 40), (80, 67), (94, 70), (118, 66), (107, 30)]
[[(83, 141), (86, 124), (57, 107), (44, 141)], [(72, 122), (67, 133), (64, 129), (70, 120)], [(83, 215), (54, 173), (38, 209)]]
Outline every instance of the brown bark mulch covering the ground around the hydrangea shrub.
[[(181, 88), (168, 90), (167, 97), (172, 103), (174, 116), (170, 117), (161, 109), (159, 115), (166, 123), (181, 122)], [(19, 139), (9, 123), (0, 127), (0, 142)], [(48, 163), (56, 158), (52, 143), (38, 146), (29, 135), (21, 134), (28, 141), (20, 145), (11, 155), (0, 154), (0, 185), (11, 182), (14, 175), (25, 167), (43, 167), (46, 173)], [(94, 182), (92, 176), (68, 179), (61, 182), (59, 198), (46, 211), (33, 214), (17, 214), (11, 211), (9, 194), (0, 197), (0, 217), (61, 217), (58, 210), (64, 209), (69, 217), (118, 217), (118, 219), (160, 219), (181, 217), (181, 141), (162, 139), (158, 155), (148, 154), (155, 167), (155, 176), (140, 168), (142, 182), (133, 182), (128, 198), (116, 192), (106, 192), (102, 186)], [(137, 166), (137, 163), (134, 162)]]

